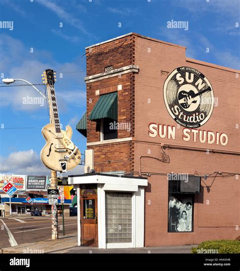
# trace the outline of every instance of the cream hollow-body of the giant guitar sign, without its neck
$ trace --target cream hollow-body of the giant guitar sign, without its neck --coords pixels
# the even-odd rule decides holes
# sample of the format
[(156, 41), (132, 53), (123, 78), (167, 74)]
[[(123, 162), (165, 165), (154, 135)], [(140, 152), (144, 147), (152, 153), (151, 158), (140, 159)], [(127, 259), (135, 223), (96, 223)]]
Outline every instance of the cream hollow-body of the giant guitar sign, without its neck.
[[(72, 128), (69, 125), (65, 131), (56, 133), (54, 123), (49, 123), (43, 127), (42, 134), (46, 144), (41, 151), (41, 160), (47, 168), (62, 172), (60, 162), (66, 162), (66, 170), (73, 169), (81, 162), (81, 153), (71, 141)], [(71, 156), (66, 160), (65, 155)]]

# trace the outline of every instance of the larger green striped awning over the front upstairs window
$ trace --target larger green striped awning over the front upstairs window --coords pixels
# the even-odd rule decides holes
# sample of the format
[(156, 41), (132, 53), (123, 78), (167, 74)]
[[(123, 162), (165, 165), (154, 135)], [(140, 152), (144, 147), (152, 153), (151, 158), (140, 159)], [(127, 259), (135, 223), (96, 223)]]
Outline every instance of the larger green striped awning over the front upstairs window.
[(100, 96), (89, 115), (90, 120), (110, 118), (117, 121), (117, 92)]

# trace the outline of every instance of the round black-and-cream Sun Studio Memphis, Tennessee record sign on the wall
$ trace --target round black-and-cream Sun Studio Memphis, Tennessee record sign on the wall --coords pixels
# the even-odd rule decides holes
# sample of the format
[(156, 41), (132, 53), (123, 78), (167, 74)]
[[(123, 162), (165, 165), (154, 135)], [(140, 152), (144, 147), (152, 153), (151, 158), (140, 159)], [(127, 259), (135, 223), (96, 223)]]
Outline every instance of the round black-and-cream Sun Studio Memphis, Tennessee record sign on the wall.
[(190, 67), (180, 67), (164, 83), (164, 101), (177, 123), (197, 128), (205, 124), (213, 112), (213, 88), (201, 72)]

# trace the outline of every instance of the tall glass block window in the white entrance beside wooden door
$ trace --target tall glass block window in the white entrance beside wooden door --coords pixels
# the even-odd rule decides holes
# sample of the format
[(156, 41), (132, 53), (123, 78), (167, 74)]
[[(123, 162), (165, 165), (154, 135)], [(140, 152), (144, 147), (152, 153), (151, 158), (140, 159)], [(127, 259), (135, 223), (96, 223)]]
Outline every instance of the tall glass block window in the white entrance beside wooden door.
[(132, 194), (106, 193), (106, 243), (132, 242)]

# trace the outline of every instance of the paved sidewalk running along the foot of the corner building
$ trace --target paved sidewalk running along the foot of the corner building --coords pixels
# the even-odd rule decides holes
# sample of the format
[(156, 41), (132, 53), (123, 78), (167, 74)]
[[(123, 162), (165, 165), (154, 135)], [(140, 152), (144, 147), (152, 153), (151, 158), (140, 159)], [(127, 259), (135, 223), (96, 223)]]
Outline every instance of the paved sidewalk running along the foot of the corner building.
[(191, 253), (195, 245), (145, 247), (145, 248), (112, 248), (77, 247), (77, 235), (62, 236), (58, 240), (45, 240), (26, 243), (0, 250), (0, 253)]

